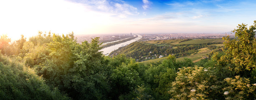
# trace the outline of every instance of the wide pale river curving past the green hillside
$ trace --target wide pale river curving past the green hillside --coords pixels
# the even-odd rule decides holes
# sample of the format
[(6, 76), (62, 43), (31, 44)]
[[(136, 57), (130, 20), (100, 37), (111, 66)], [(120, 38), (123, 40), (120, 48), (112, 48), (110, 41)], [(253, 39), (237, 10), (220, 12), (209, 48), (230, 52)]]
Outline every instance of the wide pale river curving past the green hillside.
[(114, 51), (114, 50), (117, 50), (119, 47), (122, 47), (122, 46), (125, 46), (125, 45), (129, 45), (130, 43), (135, 42), (135, 41), (137, 41), (137, 40), (139, 40), (139, 39), (141, 39), (141, 38), (142, 38), (142, 35), (138, 35), (138, 37), (136, 37), (136, 38), (133, 39), (133, 40), (129, 40), (129, 41), (126, 41), (126, 42), (122, 42), (122, 43), (119, 43), (119, 44), (117, 44), (117, 45), (112, 45), (112, 46), (110, 46), (110, 47), (105, 47), (105, 48), (103, 48), (103, 49), (101, 49), (101, 50), (99, 50), (99, 51), (103, 51), (102, 53), (103, 53), (104, 55), (109, 55), (110, 52), (112, 52), (112, 51)]

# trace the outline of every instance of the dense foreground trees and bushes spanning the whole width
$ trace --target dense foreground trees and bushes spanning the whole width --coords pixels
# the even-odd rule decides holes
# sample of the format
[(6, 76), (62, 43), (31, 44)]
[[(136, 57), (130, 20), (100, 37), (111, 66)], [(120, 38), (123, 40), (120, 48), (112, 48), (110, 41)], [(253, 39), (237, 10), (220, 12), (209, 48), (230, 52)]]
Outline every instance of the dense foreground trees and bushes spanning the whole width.
[(79, 44), (73, 32), (66, 36), (39, 32), (12, 44), (2, 35), (0, 98), (252, 100), (256, 98), (256, 21), (246, 26), (238, 25), (235, 39), (223, 37), (225, 48), (213, 51), (209, 59), (193, 63), (169, 55), (147, 65), (122, 54), (104, 56), (99, 38)]

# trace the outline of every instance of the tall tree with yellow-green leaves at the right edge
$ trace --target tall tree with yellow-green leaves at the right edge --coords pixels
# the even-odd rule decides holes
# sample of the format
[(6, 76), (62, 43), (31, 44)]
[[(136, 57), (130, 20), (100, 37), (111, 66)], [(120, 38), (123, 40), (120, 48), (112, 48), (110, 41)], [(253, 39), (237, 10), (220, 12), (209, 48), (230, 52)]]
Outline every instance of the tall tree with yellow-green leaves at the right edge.
[(223, 37), (225, 55), (218, 59), (218, 65), (228, 67), (241, 77), (251, 77), (251, 71), (256, 68), (256, 21), (249, 28), (246, 24), (237, 28), (232, 31), (235, 32), (235, 39)]

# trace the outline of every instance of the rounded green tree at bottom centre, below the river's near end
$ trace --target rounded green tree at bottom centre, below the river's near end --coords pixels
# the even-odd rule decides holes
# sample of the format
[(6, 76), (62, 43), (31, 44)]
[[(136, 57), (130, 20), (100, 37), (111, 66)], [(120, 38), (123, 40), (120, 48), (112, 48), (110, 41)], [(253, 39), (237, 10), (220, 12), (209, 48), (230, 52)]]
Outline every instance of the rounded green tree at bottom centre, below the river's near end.
[(109, 80), (112, 89), (109, 97), (113, 100), (132, 99), (137, 85), (142, 85), (138, 63), (125, 55), (117, 55), (109, 59), (108, 66), (112, 68)]

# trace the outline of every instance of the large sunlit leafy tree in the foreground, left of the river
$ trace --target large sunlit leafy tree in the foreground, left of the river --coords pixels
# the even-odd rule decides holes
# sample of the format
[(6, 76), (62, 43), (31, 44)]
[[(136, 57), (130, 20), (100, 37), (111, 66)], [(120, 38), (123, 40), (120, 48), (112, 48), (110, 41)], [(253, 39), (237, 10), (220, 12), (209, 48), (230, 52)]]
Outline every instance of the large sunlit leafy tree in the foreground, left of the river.
[(74, 33), (52, 37), (53, 42), (46, 45), (50, 53), (37, 65), (39, 75), (74, 99), (107, 98), (109, 68), (99, 52), (99, 37), (81, 45), (76, 43)]

